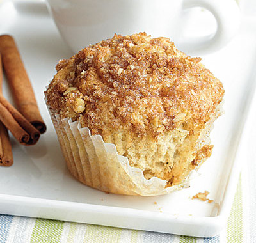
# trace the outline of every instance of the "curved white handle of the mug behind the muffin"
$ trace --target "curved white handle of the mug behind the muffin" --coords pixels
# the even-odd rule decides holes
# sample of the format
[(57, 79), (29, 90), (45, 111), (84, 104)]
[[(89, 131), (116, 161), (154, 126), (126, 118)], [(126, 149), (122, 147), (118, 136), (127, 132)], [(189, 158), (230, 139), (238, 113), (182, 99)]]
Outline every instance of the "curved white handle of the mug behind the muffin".
[(179, 48), (188, 54), (207, 54), (226, 45), (236, 34), (241, 15), (235, 0), (184, 0), (182, 9), (202, 7), (214, 15), (217, 30), (213, 36), (184, 38)]

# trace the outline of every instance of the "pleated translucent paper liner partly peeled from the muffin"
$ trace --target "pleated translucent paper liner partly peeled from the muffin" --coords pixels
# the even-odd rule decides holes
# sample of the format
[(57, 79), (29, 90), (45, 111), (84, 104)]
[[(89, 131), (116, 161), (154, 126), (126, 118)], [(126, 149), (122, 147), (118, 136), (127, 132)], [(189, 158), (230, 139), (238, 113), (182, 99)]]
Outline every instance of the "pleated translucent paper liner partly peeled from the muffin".
[[(166, 180), (157, 177), (147, 180), (140, 168), (130, 166), (127, 157), (118, 155), (114, 144), (105, 143), (100, 135), (91, 135), (88, 127), (81, 127), (79, 121), (72, 122), (71, 118), (60, 118), (60, 115), (53, 113), (51, 109), (49, 113), (68, 170), (79, 182), (100, 191), (141, 196), (169, 194), (189, 187), (191, 174), (203, 162), (186, 176), (184, 182), (166, 187)], [(207, 143), (209, 142), (208, 139)]]

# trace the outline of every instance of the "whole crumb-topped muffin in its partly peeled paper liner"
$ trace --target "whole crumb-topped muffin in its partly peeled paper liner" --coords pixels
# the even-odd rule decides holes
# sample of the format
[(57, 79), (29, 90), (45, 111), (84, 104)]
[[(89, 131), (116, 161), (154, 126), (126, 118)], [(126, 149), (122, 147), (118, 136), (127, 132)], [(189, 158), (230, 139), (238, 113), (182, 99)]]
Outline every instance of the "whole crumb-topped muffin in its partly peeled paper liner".
[(213, 146), (221, 82), (169, 38), (115, 35), (61, 60), (45, 91), (70, 173), (115, 194), (188, 186)]

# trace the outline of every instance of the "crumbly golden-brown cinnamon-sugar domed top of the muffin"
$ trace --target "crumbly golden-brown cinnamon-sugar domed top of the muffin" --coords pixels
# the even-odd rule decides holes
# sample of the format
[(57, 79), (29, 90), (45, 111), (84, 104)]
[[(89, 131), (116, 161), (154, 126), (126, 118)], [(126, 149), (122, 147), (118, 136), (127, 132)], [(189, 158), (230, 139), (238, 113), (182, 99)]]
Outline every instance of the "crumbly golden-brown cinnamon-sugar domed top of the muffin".
[(47, 104), (102, 136), (123, 129), (156, 138), (180, 124), (193, 132), (210, 120), (224, 95), (200, 61), (169, 38), (115, 35), (58, 63)]

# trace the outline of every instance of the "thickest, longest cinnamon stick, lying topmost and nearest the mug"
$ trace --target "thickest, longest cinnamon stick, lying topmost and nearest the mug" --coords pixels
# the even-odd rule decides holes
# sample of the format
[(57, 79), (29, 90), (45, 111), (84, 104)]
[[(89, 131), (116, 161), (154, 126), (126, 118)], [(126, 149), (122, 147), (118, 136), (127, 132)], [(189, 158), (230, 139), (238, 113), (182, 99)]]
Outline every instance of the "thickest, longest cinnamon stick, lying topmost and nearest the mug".
[(12, 36), (0, 36), (0, 52), (3, 56), (4, 71), (17, 109), (40, 133), (44, 133), (46, 126), (40, 115), (33, 88)]

